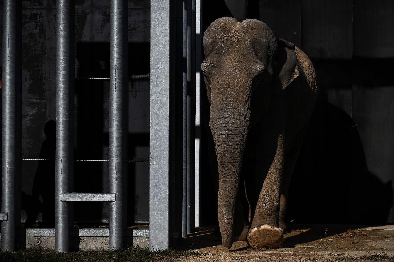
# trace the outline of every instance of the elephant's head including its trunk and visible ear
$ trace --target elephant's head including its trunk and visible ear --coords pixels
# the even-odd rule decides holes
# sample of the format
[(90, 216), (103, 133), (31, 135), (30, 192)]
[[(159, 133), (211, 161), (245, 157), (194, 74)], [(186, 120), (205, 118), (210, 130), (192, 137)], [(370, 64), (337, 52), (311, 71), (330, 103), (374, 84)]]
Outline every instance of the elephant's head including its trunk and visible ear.
[(219, 168), (218, 218), (222, 244), (230, 248), (247, 132), (298, 76), (297, 56), (294, 45), (277, 40), (263, 22), (230, 17), (205, 31), (204, 53), (201, 69)]

